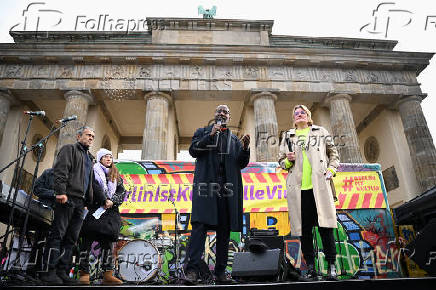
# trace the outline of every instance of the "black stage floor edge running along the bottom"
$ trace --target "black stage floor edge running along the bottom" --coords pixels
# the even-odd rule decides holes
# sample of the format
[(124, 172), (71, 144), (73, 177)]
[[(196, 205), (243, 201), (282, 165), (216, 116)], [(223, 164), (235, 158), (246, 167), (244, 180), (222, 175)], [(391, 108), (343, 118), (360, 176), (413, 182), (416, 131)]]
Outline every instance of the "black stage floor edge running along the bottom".
[[(10, 286), (8, 288), (68, 288), (68, 289), (86, 289), (90, 287), (106, 287), (115, 289), (131, 289), (133, 287), (142, 287), (147, 289), (165, 289), (165, 288), (177, 288), (177, 289), (188, 289), (195, 288), (200, 289), (228, 289), (232, 290), (285, 290), (285, 289), (335, 289), (335, 290), (391, 290), (391, 289), (435, 289), (436, 288), (436, 277), (425, 277), (425, 278), (395, 278), (395, 279), (373, 279), (373, 280), (342, 280), (342, 281), (317, 281), (317, 282), (284, 282), (284, 283), (250, 283), (250, 284), (235, 284), (235, 285), (195, 285), (195, 286), (185, 286), (185, 285), (132, 285), (123, 284), (119, 286)], [(2, 287), (3, 288), (3, 287)]]

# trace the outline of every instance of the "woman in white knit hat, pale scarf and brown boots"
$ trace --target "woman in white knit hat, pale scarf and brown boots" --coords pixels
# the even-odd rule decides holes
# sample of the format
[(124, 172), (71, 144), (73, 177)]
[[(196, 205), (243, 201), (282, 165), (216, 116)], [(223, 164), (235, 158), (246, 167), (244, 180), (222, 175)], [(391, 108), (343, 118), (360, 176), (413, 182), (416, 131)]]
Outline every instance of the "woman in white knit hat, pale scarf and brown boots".
[[(82, 227), (80, 246), (79, 282), (89, 285), (89, 253), (94, 241), (101, 247), (101, 261), (104, 285), (118, 285), (122, 281), (113, 276), (112, 242), (118, 240), (121, 228), (121, 216), (118, 207), (123, 203), (125, 189), (118, 169), (113, 164), (112, 152), (100, 149), (94, 164), (94, 203)], [(96, 211), (104, 211), (100, 217)]]

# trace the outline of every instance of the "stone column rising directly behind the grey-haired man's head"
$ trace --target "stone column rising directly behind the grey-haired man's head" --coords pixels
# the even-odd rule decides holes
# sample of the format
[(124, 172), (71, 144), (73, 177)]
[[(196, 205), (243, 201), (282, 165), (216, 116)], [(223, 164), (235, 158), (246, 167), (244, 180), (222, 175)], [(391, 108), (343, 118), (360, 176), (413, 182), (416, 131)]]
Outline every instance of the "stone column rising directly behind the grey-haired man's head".
[(62, 128), (59, 132), (58, 144), (56, 145), (55, 156), (59, 149), (65, 144), (72, 144), (77, 141), (77, 129), (86, 124), (88, 117), (88, 108), (93, 103), (91, 95), (81, 91), (68, 91), (65, 93), (67, 103), (62, 118), (67, 118), (72, 115), (77, 116), (77, 120), (68, 122), (67, 126)]

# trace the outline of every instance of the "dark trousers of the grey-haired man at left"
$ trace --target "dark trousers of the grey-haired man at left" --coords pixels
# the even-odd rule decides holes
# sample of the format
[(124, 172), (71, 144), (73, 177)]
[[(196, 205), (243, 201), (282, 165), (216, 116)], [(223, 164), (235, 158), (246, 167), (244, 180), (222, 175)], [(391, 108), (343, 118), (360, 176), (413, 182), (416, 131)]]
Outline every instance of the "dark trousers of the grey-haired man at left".
[(56, 203), (45, 249), (44, 260), (48, 261), (49, 271), (67, 271), (71, 268), (72, 251), (82, 227), (83, 214), (82, 198), (69, 196), (67, 203)]

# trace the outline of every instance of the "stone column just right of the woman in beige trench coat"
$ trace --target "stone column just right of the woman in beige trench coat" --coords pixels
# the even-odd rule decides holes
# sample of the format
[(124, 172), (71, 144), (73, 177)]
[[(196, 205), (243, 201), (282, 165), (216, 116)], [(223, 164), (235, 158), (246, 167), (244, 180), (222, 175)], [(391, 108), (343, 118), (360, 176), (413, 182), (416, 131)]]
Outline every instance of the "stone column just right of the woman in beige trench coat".
[(330, 122), (333, 131), (330, 134), (337, 137), (335, 143), (339, 151), (340, 162), (363, 163), (350, 101), (351, 96), (347, 94), (327, 97), (326, 103), (330, 107)]

